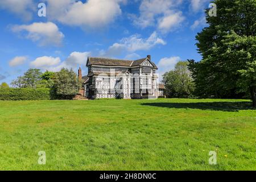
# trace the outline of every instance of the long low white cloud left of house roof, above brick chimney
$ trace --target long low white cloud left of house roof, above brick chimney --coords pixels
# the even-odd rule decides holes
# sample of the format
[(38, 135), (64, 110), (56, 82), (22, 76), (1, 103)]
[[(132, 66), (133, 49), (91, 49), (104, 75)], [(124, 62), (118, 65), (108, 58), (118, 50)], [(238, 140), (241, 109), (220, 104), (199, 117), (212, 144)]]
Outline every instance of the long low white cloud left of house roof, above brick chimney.
[(90, 52), (72, 52), (68, 58), (61, 61), (59, 57), (43, 56), (38, 57), (30, 63), (31, 67), (57, 72), (61, 68), (76, 69), (85, 65)]

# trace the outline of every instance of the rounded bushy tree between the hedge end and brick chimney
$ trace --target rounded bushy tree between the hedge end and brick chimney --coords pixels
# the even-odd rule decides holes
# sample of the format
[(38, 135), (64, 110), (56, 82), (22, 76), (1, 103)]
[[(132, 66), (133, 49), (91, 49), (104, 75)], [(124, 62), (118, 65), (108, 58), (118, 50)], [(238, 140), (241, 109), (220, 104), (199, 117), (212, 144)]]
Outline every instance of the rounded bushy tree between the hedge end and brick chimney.
[(63, 68), (60, 72), (56, 72), (53, 82), (56, 94), (63, 96), (63, 98), (72, 98), (78, 93), (81, 86), (76, 73), (72, 69)]

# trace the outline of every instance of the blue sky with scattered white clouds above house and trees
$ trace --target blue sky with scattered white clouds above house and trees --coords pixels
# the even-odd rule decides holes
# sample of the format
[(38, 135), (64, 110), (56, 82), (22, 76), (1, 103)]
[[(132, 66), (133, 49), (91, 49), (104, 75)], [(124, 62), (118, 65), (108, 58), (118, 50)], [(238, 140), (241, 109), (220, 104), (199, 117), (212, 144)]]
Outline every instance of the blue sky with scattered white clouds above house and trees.
[[(46, 3), (46, 17), (38, 4)], [(82, 68), (88, 56), (151, 55), (162, 74), (201, 56), (195, 36), (209, 0), (6, 0), (0, 2), (0, 82), (28, 68)]]

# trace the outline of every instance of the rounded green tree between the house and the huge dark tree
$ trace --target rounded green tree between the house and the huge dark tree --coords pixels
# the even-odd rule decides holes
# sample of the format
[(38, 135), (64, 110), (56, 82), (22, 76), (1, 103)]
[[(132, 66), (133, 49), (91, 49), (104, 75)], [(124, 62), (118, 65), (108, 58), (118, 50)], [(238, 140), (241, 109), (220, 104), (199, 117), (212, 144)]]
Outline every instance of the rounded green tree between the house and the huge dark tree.
[(188, 61), (179, 61), (173, 71), (164, 73), (163, 82), (169, 97), (187, 98), (192, 96), (195, 90), (191, 73), (188, 70)]

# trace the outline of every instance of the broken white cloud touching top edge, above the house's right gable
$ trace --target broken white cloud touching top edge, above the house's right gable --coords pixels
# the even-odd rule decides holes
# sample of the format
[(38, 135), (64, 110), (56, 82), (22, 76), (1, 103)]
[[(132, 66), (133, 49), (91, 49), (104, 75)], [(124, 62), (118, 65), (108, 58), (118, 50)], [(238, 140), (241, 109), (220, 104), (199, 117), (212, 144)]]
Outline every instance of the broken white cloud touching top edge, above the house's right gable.
[(146, 28), (158, 24), (158, 28), (170, 31), (184, 20), (182, 12), (175, 9), (182, 0), (143, 0), (139, 7), (140, 15), (131, 14), (133, 23), (139, 27)]

